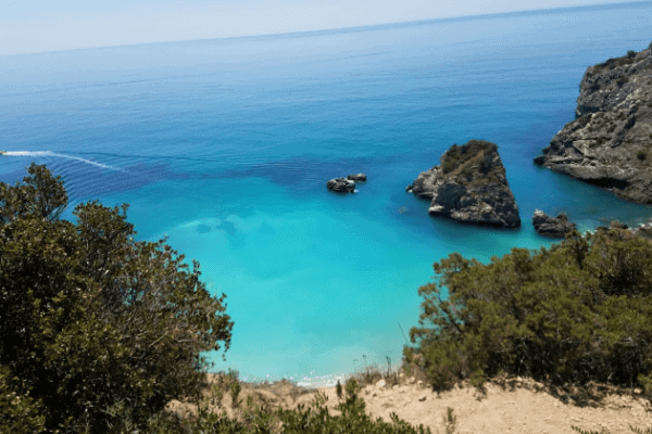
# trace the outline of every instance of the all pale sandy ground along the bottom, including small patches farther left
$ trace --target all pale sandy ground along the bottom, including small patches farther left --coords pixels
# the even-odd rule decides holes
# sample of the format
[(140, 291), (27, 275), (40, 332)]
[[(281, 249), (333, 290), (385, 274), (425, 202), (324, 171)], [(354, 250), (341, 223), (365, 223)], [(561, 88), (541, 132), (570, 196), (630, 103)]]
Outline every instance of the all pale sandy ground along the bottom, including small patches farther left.
[[(570, 425), (582, 430), (610, 433), (631, 433), (629, 424), (640, 429), (652, 429), (652, 405), (638, 396), (638, 393), (597, 392), (600, 399), (585, 399), (577, 405), (573, 399), (555, 397), (542, 384), (530, 380), (513, 379), (509, 382), (489, 383), (481, 394), (472, 386), (456, 387), (453, 391), (436, 393), (429, 387), (416, 384), (414, 379), (402, 376), (400, 385), (391, 387), (367, 385), (360, 396), (366, 403), (366, 410), (374, 418), (390, 421), (396, 412), (401, 419), (430, 427), (432, 434), (446, 433), (443, 422), (447, 409), (452, 408), (457, 417), (455, 433), (576, 433)], [(338, 404), (335, 388), (319, 388), (327, 395), (327, 405)], [(298, 404), (310, 404), (315, 391), (306, 391), (288, 382), (268, 385), (243, 385), (239, 395), (242, 403), (251, 396), (256, 404), (271, 407), (283, 405), (294, 408)], [(638, 391), (637, 391), (638, 392)], [(173, 403), (170, 407), (178, 412), (192, 411), (190, 406)], [(229, 416), (238, 411), (231, 409), (229, 395), (225, 395), (222, 406), (213, 406), (215, 411), (227, 411)], [(337, 411), (333, 411), (337, 413)]]

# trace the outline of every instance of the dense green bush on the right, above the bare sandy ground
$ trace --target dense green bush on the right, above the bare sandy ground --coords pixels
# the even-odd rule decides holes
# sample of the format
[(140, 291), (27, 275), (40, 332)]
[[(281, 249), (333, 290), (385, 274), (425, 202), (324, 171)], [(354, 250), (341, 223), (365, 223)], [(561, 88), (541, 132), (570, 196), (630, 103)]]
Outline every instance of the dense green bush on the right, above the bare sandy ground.
[(652, 396), (652, 243), (627, 230), (568, 234), (488, 265), (452, 254), (419, 289), (416, 347), (432, 385), (501, 372), (555, 384), (638, 386)]

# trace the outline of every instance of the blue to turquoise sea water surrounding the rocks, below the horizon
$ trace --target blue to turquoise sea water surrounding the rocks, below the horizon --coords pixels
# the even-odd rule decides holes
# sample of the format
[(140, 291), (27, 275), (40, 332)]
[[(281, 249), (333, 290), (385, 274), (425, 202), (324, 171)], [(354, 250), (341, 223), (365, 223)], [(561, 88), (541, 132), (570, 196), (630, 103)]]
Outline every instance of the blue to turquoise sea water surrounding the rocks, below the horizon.
[[(235, 320), (215, 370), (333, 384), (400, 363), (450, 253), (550, 245), (536, 208), (581, 230), (652, 217), (532, 164), (587, 66), (647, 48), (650, 16), (638, 2), (0, 56), (0, 180), (47, 164), (73, 206), (129, 203), (140, 239), (198, 259)], [(522, 228), (435, 219), (405, 193), (469, 139), (498, 143)], [(326, 191), (359, 171), (358, 193)]]

